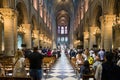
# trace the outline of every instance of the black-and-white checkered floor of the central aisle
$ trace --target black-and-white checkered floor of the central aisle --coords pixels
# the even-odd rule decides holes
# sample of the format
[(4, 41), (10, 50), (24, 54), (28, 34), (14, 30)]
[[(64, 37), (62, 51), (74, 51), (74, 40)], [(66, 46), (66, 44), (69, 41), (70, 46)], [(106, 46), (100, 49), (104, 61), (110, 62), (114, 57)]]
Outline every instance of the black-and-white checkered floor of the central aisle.
[(61, 57), (51, 69), (46, 80), (77, 80), (75, 72), (64, 53), (61, 53)]

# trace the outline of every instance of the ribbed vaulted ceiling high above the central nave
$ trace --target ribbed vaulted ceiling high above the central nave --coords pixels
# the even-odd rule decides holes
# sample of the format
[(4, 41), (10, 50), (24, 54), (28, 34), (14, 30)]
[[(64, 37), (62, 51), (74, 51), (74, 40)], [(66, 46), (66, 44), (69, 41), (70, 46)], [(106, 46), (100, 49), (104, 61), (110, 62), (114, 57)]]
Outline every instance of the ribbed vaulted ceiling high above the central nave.
[(53, 11), (57, 25), (68, 25), (74, 13), (73, 0), (53, 0)]

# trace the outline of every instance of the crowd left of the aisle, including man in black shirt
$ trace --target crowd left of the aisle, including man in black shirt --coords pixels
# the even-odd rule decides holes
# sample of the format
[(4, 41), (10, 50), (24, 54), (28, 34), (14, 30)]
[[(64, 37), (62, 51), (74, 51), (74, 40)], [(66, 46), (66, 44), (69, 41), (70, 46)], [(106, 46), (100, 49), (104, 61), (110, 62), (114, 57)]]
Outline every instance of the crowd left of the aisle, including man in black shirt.
[[(39, 48), (34, 47), (31, 49), (23, 48), (22, 50), (18, 49), (15, 53), (14, 57), (14, 69), (13, 69), (13, 77), (27, 77), (28, 73), (25, 69), (26, 67), (26, 59), (29, 60), (29, 76), (32, 80), (41, 80), (43, 76), (42, 70), (42, 60), (45, 56), (55, 56), (59, 58), (61, 56), (60, 49), (50, 49), (50, 48)], [(0, 76), (5, 77), (5, 70), (0, 64)]]

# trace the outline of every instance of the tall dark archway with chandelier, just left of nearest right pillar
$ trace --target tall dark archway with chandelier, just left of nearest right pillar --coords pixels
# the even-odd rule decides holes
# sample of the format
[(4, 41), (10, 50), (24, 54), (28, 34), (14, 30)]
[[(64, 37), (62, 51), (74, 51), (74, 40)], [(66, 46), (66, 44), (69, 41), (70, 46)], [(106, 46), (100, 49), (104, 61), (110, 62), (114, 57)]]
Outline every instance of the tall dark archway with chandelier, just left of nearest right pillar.
[[(93, 19), (92, 19), (92, 26), (91, 26), (91, 29), (94, 29), (92, 30), (92, 34), (94, 36), (94, 44), (96, 47), (95, 48), (101, 48), (102, 45), (101, 45), (101, 29), (102, 29), (102, 26), (101, 26), (101, 22), (100, 22), (100, 17), (102, 16), (102, 5), (100, 2), (96, 3), (94, 9), (93, 9)], [(90, 32), (90, 34), (91, 34)]]

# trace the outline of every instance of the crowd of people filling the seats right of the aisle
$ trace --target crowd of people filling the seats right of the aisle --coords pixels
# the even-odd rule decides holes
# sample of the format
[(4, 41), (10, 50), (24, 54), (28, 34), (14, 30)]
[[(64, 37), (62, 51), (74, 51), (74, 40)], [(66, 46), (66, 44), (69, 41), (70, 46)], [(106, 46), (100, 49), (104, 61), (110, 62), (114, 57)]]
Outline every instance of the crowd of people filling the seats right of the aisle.
[[(120, 80), (120, 50), (68, 49), (70, 59), (80, 66), (79, 80), (84, 74), (94, 74), (96, 80)], [(92, 70), (90, 70), (90, 65)]]

